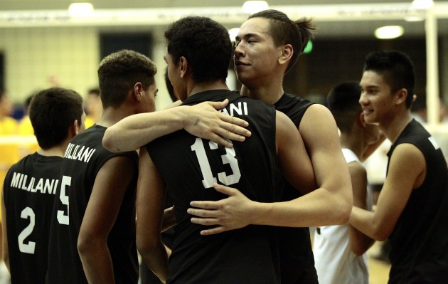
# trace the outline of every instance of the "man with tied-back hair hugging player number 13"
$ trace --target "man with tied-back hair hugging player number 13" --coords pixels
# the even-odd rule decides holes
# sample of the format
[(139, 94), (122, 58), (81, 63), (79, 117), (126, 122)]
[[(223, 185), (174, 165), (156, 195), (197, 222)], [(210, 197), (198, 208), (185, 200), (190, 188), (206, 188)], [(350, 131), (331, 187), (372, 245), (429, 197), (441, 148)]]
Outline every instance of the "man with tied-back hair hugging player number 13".
[(215, 225), (203, 232), (206, 234), (266, 221), (283, 226), (279, 228), (283, 283), (317, 283), (307, 227), (346, 223), (352, 204), (351, 180), (331, 112), (323, 105), (312, 104), (283, 90), (284, 75), (297, 63), (313, 29), (309, 19), (292, 21), (281, 11), (252, 14), (242, 23), (236, 37), (234, 60), (242, 83), (241, 94), (274, 105), (296, 125), (313, 163), (318, 189), (299, 192), (287, 184), (282, 196), (286, 202), (278, 204), (273, 209), (277, 214), (269, 214), (267, 219), (258, 216), (260, 211), (271, 210), (270, 204), (252, 203), (239, 191), (225, 186), (218, 190), (229, 194), (230, 199), (216, 204), (195, 202), (194, 207), (211, 210), (190, 211), (193, 215), (208, 217), (193, 219), (194, 222)]

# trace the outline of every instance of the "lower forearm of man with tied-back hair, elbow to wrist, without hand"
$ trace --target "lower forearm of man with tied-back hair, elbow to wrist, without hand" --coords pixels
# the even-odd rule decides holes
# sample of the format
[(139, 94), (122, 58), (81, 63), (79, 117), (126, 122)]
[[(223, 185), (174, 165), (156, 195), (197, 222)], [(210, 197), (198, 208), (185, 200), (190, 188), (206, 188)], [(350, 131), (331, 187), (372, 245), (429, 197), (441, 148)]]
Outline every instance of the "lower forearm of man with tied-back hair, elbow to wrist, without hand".
[(351, 204), (342, 196), (319, 188), (298, 199), (253, 203), (247, 212), (256, 225), (311, 227), (347, 223)]

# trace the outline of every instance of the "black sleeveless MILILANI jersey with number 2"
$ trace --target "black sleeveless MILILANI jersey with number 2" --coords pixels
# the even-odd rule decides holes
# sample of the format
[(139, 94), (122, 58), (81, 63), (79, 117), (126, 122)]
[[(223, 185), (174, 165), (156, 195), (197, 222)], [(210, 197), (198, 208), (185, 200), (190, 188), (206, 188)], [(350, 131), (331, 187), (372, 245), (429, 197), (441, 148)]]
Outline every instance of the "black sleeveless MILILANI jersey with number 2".
[(11, 283), (44, 283), (48, 235), (62, 157), (30, 154), (4, 181)]

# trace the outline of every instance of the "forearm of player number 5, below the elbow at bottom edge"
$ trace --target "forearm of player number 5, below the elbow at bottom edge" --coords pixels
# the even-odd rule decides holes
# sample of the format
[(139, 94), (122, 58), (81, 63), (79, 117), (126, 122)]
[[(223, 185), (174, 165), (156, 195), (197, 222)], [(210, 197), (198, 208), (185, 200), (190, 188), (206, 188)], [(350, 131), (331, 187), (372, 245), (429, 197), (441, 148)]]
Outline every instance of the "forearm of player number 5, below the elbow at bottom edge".
[(78, 252), (89, 283), (115, 283), (112, 258), (107, 243), (78, 245)]

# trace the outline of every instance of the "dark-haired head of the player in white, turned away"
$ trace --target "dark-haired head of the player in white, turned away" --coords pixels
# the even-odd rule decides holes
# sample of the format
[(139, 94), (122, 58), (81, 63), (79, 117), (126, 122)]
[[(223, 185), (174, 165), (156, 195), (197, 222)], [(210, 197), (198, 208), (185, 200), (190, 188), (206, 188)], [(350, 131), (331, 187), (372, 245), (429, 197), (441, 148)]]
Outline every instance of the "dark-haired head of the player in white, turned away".
[(362, 112), (359, 98), (361, 87), (358, 82), (351, 81), (336, 85), (326, 96), (326, 102), (336, 125), (341, 132), (350, 132), (353, 122)]

